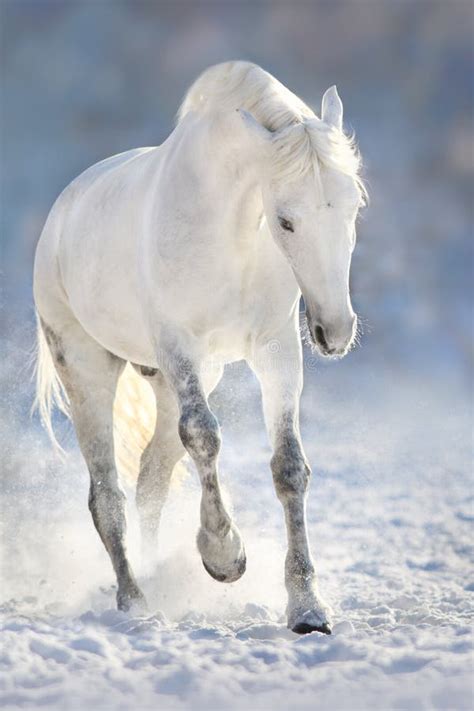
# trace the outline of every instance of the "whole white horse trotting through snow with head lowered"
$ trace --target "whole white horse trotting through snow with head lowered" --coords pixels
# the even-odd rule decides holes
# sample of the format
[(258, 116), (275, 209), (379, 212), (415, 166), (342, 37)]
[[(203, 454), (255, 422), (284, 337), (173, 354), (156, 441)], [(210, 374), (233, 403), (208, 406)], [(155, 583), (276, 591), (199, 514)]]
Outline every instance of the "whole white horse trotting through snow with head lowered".
[[(54, 402), (69, 408), (122, 610), (145, 600), (127, 558), (114, 452), (114, 399), (117, 417), (126, 417), (119, 379), (148, 380), (156, 398), (137, 483), (143, 536), (155, 541), (173, 468), (187, 451), (202, 484), (203, 564), (233, 582), (246, 557), (219, 489), (220, 433), (208, 395), (225, 363), (245, 359), (260, 381), (286, 520), (288, 626), (331, 631), (305, 520), (298, 312), (303, 294), (323, 355), (350, 349), (349, 268), (364, 190), (342, 111), (334, 86), (318, 118), (254, 64), (211, 67), (163, 145), (89, 168), (48, 216), (34, 271), (37, 405), (50, 432)], [(129, 432), (139, 430), (130, 419)]]

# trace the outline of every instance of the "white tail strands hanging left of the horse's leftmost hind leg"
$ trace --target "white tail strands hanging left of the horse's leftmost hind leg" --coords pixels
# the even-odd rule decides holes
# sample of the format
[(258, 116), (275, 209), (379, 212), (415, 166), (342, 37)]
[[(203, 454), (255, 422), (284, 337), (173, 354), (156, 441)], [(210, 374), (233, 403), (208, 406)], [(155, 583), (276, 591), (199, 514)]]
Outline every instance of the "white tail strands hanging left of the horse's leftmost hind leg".
[(32, 413), (38, 411), (43, 427), (48, 433), (51, 442), (57, 452), (63, 455), (64, 450), (54, 434), (51, 415), (53, 408), (57, 407), (66, 415), (66, 417), (71, 419), (69, 411), (69, 398), (54, 366), (53, 357), (51, 355), (51, 351), (49, 350), (38, 313), (36, 313), (35, 375), (36, 394), (33, 402)]

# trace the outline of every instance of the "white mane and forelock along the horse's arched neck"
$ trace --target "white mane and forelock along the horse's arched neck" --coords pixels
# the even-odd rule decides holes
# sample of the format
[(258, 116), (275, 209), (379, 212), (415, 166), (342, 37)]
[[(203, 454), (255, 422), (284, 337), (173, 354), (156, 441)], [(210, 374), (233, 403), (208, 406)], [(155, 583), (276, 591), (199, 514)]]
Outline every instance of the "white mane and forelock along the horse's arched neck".
[(274, 139), (274, 170), (281, 177), (304, 175), (310, 169), (318, 170), (321, 163), (353, 177), (365, 195), (353, 136), (321, 121), (309, 106), (261, 67), (241, 61), (210, 67), (186, 93), (178, 120), (189, 111), (226, 108), (245, 109), (265, 128), (278, 132)]

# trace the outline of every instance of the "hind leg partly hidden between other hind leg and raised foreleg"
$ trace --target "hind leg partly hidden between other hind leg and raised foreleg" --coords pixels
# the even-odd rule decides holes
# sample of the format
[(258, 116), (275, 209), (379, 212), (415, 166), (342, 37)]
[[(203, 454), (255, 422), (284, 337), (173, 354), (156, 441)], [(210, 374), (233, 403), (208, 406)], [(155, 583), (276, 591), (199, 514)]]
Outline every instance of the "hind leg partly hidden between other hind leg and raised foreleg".
[(144, 558), (154, 556), (161, 512), (175, 465), (185, 454), (178, 433), (179, 409), (174, 393), (159, 370), (137, 368), (153, 388), (156, 425), (143, 451), (137, 482), (136, 503)]

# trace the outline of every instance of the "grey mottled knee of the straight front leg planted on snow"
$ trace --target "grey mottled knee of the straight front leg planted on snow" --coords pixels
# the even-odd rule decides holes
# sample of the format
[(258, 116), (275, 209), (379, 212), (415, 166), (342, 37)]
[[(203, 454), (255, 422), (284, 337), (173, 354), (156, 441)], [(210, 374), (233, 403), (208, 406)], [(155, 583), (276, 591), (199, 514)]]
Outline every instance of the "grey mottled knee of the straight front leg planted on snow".
[(304, 495), (311, 478), (311, 469), (296, 439), (275, 451), (270, 466), (280, 500)]

